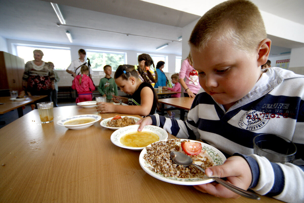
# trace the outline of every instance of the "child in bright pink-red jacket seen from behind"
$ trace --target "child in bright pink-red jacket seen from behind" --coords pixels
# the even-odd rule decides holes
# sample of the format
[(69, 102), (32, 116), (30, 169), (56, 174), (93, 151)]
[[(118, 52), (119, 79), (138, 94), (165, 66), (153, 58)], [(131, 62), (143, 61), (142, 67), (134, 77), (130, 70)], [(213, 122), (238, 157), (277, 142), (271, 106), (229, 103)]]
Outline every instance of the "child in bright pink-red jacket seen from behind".
[(89, 74), (89, 67), (86, 65), (81, 66), (81, 74), (77, 75), (73, 80), (72, 89), (77, 90), (78, 97), (76, 98), (76, 104), (82, 101), (92, 101), (93, 90), (95, 86)]

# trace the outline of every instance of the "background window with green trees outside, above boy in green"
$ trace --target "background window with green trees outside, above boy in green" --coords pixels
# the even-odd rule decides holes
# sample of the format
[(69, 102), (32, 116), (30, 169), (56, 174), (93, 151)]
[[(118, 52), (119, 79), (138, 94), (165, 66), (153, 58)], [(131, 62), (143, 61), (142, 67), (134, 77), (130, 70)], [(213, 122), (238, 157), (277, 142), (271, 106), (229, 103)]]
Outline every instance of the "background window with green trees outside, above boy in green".
[(105, 65), (110, 65), (112, 71), (116, 71), (119, 65), (126, 64), (126, 55), (125, 52), (86, 50), (93, 71), (103, 71)]

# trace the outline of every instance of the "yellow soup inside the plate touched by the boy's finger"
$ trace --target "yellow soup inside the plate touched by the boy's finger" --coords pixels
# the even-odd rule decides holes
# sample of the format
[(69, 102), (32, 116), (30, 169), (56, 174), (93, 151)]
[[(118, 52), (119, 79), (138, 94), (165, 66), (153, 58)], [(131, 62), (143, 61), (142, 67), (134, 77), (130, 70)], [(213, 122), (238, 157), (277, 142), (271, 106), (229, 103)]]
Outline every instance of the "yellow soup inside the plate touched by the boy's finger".
[(130, 132), (120, 138), (120, 142), (130, 147), (144, 147), (159, 140), (157, 134), (153, 132)]

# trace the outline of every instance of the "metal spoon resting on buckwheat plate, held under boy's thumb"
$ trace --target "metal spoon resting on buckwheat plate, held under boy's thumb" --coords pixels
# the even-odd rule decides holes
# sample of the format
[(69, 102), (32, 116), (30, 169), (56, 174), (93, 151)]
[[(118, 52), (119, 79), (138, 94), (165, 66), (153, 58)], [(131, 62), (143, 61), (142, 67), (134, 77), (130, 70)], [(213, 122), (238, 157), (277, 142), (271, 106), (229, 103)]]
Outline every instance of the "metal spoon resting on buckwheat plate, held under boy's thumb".
[[(170, 156), (171, 156), (171, 159), (174, 161), (174, 163), (178, 164), (178, 165), (182, 165), (182, 166), (190, 166), (190, 165), (193, 165), (195, 167), (197, 167), (199, 170), (201, 170), (202, 172), (205, 173), (205, 170), (196, 165), (195, 163), (193, 163), (193, 160), (191, 159), (191, 157), (187, 156), (186, 154), (183, 154), (181, 152), (174, 152), (172, 151), (170, 153)], [(223, 179), (221, 178), (218, 178), (218, 177), (211, 177), (214, 181), (218, 182), (219, 184), (223, 185), (224, 187), (228, 188), (229, 190), (243, 196), (243, 197), (247, 197), (247, 198), (250, 198), (250, 199), (260, 199), (259, 196), (257, 196), (256, 194), (252, 193), (252, 192), (249, 192), (249, 191), (246, 191), (246, 190), (243, 190), (241, 188), (238, 188), (236, 186), (234, 186), (233, 184), (231, 183), (228, 183), (226, 181), (224, 181)]]

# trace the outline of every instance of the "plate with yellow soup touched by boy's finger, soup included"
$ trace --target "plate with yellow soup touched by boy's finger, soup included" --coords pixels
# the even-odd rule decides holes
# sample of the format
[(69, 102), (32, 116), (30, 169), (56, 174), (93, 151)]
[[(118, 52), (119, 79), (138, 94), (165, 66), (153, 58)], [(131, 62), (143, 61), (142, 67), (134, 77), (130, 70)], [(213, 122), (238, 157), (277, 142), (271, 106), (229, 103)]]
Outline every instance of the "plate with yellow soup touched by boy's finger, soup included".
[(120, 128), (112, 133), (111, 142), (116, 146), (130, 149), (142, 150), (151, 143), (168, 138), (168, 133), (157, 126), (144, 126), (138, 132), (139, 125), (132, 125)]

